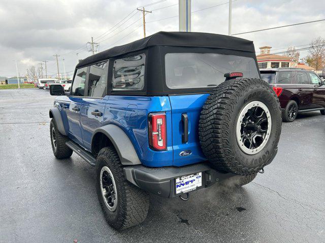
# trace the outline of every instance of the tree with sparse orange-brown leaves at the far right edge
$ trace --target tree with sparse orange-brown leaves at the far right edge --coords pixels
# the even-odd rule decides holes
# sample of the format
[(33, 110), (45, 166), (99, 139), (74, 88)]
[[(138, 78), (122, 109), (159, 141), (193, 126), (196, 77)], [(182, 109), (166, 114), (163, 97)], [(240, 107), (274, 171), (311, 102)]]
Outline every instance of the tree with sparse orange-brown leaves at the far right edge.
[(307, 64), (316, 70), (322, 70), (325, 66), (325, 39), (320, 36), (313, 39), (310, 47)]

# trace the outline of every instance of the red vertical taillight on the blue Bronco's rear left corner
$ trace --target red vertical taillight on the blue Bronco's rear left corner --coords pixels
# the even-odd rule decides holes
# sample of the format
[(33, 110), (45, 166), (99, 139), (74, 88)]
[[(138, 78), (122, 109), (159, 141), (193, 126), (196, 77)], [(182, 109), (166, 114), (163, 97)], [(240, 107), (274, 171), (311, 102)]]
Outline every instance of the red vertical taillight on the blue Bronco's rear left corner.
[(150, 113), (148, 117), (148, 130), (150, 148), (154, 150), (166, 150), (166, 113)]

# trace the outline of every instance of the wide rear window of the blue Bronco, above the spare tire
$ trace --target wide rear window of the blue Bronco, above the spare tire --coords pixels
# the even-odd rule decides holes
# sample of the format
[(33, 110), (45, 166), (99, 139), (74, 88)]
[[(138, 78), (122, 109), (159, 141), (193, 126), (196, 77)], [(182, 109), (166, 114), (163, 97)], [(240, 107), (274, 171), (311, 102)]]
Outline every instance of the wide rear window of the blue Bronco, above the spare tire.
[(170, 89), (214, 87), (228, 72), (244, 77), (259, 77), (255, 60), (250, 57), (215, 53), (168, 53), (165, 56), (166, 85)]

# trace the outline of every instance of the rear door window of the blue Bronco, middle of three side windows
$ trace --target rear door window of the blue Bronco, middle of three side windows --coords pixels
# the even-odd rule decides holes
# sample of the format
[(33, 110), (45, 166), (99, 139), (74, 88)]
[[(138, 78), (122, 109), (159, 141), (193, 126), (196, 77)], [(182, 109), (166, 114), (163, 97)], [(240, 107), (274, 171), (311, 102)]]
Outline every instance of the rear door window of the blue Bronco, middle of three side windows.
[(104, 97), (107, 88), (108, 61), (90, 66), (88, 77), (89, 97)]

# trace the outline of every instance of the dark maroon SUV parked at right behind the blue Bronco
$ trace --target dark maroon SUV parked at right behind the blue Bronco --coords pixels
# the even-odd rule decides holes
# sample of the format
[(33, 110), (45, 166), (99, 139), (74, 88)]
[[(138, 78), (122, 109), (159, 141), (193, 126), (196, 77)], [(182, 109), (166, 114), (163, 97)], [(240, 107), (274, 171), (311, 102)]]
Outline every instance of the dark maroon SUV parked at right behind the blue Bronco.
[(259, 71), (279, 97), (283, 121), (290, 123), (301, 112), (320, 110), (325, 114), (325, 84), (316, 73), (301, 68)]

